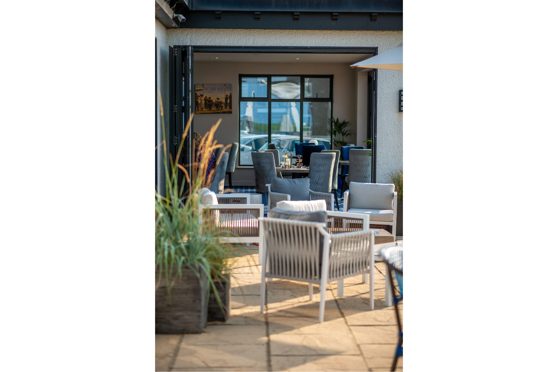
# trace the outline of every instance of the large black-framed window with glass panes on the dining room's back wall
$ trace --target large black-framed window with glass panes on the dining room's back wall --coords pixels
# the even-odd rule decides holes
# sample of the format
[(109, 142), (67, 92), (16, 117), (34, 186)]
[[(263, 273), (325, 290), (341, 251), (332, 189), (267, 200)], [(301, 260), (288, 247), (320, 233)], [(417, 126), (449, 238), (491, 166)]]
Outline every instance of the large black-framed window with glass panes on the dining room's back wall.
[(240, 166), (252, 152), (273, 143), (280, 156), (295, 154), (295, 143), (331, 148), (331, 75), (239, 75)]

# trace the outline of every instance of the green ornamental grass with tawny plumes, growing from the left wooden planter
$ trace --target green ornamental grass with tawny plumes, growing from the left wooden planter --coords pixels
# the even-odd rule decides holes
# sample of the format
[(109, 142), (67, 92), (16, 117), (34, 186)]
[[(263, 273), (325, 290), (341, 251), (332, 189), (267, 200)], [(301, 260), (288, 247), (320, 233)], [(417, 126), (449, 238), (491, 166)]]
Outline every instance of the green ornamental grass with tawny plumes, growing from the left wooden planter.
[[(159, 93), (159, 100), (162, 102), (161, 93)], [(176, 281), (181, 280), (182, 270), (189, 268), (200, 280), (202, 276), (208, 278), (207, 298), (209, 299), (209, 291), (213, 290), (219, 306), (222, 306), (215, 281), (228, 282), (230, 267), (227, 259), (240, 255), (239, 250), (242, 252), (246, 249), (239, 249), (229, 243), (218, 243), (219, 236), (231, 236), (230, 232), (219, 228), (209, 214), (199, 212), (198, 198), (195, 194), (205, 182), (211, 152), (222, 146), (217, 145), (217, 141), (213, 138), (221, 120), (219, 119), (217, 124), (213, 125), (202, 138), (201, 162), (186, 165), (186, 167), (193, 166), (194, 169), (191, 173), (193, 177), (190, 179), (185, 166), (179, 163), (179, 154), (184, 146), (192, 119), (193, 115), (186, 124), (178, 152), (173, 159), (172, 154), (167, 154), (165, 122), (161, 104), (162, 147), (165, 154), (163, 163), (166, 182), (165, 195), (156, 192), (155, 198), (155, 268), (158, 273), (155, 290), (157, 291), (161, 281), (164, 280), (169, 301), (172, 303), (171, 287)], [(220, 160), (221, 157), (218, 161)], [(184, 175), (180, 185), (179, 172)], [(215, 172), (215, 169), (211, 172)]]

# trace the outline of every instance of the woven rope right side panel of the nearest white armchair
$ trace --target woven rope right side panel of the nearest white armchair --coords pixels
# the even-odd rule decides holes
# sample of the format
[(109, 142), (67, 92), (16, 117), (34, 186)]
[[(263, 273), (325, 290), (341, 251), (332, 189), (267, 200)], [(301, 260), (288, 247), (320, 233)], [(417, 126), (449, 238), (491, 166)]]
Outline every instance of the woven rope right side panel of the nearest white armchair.
[(360, 234), (345, 233), (331, 235), (329, 275), (333, 281), (367, 272), (370, 265), (372, 231)]

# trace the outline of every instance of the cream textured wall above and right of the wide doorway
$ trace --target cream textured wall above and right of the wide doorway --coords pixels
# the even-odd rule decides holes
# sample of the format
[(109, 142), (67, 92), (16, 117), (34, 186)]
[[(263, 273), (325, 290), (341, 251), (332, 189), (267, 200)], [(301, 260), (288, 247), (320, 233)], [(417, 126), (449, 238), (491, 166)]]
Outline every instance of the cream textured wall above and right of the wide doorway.
[[(402, 31), (304, 31), (304, 30), (215, 30), (172, 28), (168, 45), (223, 46), (352, 46), (378, 47), (382, 53), (403, 41)], [(194, 73), (195, 75), (195, 73)], [(399, 71), (378, 71), (377, 182), (403, 166), (403, 120), (397, 110), (403, 86)], [(356, 128), (355, 128), (356, 130)], [(360, 137), (360, 136), (359, 136)]]

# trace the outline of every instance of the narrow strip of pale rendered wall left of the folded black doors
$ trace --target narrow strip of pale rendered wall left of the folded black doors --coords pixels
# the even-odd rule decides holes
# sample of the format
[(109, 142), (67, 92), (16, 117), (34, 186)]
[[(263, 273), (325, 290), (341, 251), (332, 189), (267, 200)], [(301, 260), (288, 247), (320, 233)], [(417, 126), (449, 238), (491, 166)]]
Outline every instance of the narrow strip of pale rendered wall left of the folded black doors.
[[(169, 44), (167, 42), (167, 29), (161, 22), (155, 19), (155, 37), (157, 38), (157, 89), (161, 91), (161, 96), (163, 98), (163, 113), (165, 115), (165, 131), (167, 137), (169, 135), (169, 113), (167, 113), (167, 108), (169, 107)], [(161, 112), (157, 108), (157, 143), (161, 143), (163, 140), (161, 131)], [(162, 148), (157, 151), (157, 164), (158, 164), (158, 176), (157, 176), (157, 190), (161, 192), (164, 191), (165, 173), (163, 171), (163, 151)]]

